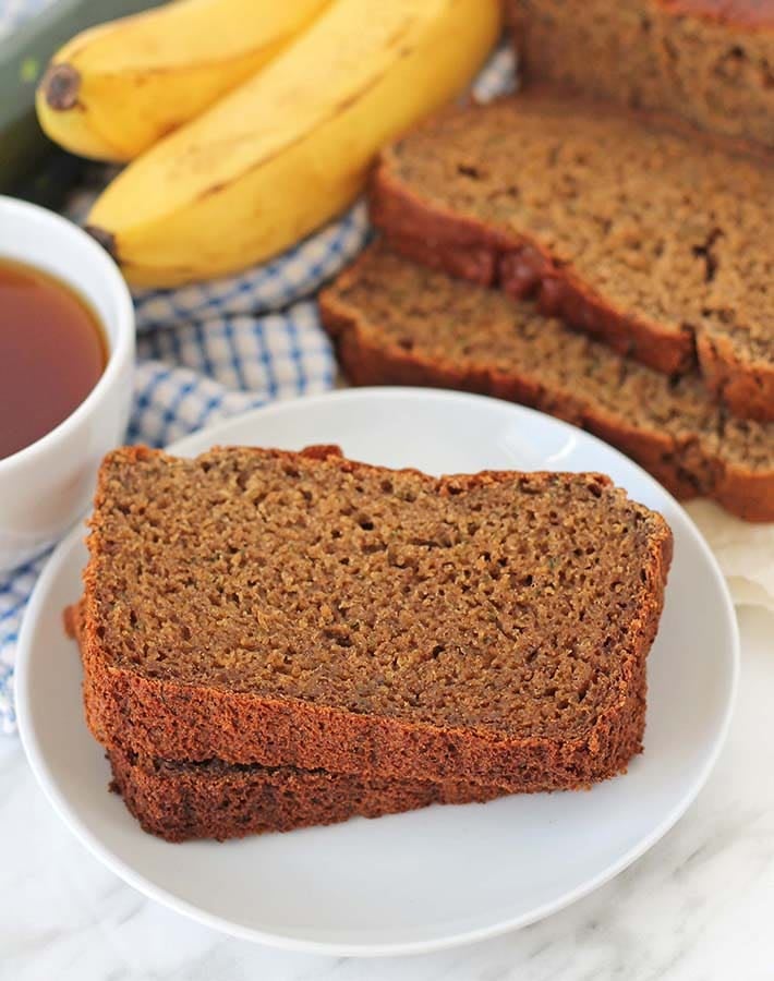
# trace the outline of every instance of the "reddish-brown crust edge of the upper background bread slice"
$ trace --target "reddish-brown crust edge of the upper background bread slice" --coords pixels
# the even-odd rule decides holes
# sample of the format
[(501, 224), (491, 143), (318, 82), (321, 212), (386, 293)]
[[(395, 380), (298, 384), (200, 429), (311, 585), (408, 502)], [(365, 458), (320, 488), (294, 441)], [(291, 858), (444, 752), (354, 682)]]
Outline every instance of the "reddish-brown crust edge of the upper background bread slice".
[[(660, 119), (639, 113), (643, 121)], [(685, 131), (675, 121), (672, 129)], [(722, 137), (708, 137), (729, 146)], [(667, 328), (601, 298), (567, 263), (529, 234), (506, 233), (424, 199), (402, 181), (396, 149), (388, 148), (372, 177), (371, 217), (399, 253), (434, 269), (497, 287), (515, 299), (533, 299), (540, 311), (603, 340), (618, 353), (668, 375), (697, 366), (710, 392), (741, 417), (774, 421), (774, 365), (742, 362), (728, 338)]]

